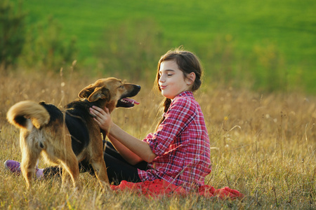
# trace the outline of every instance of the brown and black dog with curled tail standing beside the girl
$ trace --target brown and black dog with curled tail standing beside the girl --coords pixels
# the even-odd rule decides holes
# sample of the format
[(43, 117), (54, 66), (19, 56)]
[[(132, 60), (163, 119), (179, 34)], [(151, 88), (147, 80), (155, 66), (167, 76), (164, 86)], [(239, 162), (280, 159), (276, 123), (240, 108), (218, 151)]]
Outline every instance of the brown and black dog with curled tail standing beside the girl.
[(62, 184), (70, 175), (74, 189), (78, 187), (79, 165), (89, 162), (103, 190), (109, 180), (103, 159), (103, 139), (100, 127), (89, 112), (91, 106), (110, 112), (116, 107), (133, 107), (138, 102), (133, 97), (139, 85), (123, 83), (117, 78), (103, 78), (88, 85), (77, 100), (60, 111), (53, 104), (44, 102), (18, 102), (7, 113), (8, 122), (20, 128), (22, 152), (21, 171), (29, 188), (40, 155), (52, 165), (62, 167)]

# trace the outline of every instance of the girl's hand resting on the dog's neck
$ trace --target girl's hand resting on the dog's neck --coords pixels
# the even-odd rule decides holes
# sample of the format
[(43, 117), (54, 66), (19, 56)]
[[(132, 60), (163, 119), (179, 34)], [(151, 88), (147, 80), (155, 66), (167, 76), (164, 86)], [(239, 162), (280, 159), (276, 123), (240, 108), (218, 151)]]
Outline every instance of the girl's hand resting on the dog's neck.
[(101, 130), (108, 131), (112, 124), (110, 111), (105, 107), (105, 110), (100, 109), (98, 106), (92, 106), (90, 108), (90, 113), (93, 117), (93, 120), (96, 120)]

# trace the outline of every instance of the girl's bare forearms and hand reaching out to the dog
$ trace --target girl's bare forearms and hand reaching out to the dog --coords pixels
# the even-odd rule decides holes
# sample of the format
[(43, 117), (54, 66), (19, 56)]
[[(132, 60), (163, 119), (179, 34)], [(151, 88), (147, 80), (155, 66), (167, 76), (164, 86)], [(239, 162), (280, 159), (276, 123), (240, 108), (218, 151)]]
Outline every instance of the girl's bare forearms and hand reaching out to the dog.
[[(123, 157), (129, 158), (129, 160), (127, 160), (128, 162), (131, 161), (131, 164), (136, 164), (137, 162), (140, 162), (140, 158), (146, 162), (152, 162), (152, 160), (156, 158), (157, 155), (152, 152), (149, 144), (131, 136), (112, 122), (109, 110), (107, 108), (103, 110), (97, 106), (92, 106), (90, 111), (93, 116), (96, 116), (93, 119), (96, 120), (100, 128), (102, 130), (107, 130), (108, 134), (110, 134), (112, 140), (114, 140), (111, 142), (114, 146), (117, 146), (119, 153), (121, 153)], [(115, 140), (119, 141), (121, 144), (117, 144)], [(125, 146), (127, 149), (123, 146)]]

